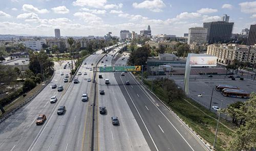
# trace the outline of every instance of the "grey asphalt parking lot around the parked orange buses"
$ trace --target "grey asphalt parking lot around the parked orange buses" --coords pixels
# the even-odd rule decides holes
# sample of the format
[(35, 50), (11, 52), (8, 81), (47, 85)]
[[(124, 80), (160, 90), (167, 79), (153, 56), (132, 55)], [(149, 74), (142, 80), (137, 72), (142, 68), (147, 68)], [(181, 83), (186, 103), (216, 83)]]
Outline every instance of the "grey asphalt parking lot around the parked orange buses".
[[(175, 80), (176, 83), (184, 88), (184, 81), (183, 80)], [(236, 97), (226, 97), (221, 94), (221, 92), (215, 90), (215, 86), (217, 84), (226, 84), (226, 85), (233, 85), (238, 86), (241, 90), (245, 90), (251, 94), (251, 92), (255, 92), (256, 90), (256, 82), (253, 81), (241, 81), (236, 80), (233, 81), (231, 79), (216, 79), (216, 80), (193, 80), (190, 78), (189, 81), (189, 92), (190, 96), (196, 99), (201, 105), (209, 108), (210, 104), (210, 95), (212, 92), (212, 88), (214, 88), (212, 97), (211, 106), (218, 106), (220, 107), (221, 102), (223, 100), (223, 108), (226, 108), (229, 104), (234, 102), (242, 101), (245, 102), (245, 98), (236, 98)], [(203, 94), (203, 97), (198, 97), (198, 95)], [(208, 96), (207, 96), (208, 95)], [(212, 109), (211, 109), (212, 110)]]

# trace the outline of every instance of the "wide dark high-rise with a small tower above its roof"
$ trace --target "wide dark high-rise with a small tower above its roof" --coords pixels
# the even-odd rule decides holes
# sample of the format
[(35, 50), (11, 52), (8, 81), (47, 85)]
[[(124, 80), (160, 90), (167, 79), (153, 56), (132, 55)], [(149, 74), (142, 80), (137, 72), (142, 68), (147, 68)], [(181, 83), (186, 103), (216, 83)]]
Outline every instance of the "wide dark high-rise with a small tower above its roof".
[(207, 28), (207, 41), (227, 41), (232, 36), (233, 22), (228, 22), (229, 16), (226, 14), (222, 17), (223, 21), (204, 22), (203, 27)]

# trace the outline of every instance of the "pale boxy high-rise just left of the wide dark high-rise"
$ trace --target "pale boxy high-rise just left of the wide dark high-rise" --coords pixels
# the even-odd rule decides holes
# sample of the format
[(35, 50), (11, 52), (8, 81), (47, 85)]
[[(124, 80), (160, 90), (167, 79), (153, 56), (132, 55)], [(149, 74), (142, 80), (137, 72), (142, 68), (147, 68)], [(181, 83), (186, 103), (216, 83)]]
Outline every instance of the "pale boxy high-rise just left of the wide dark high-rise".
[(207, 28), (195, 27), (188, 29), (188, 40), (187, 44), (197, 43), (203, 44), (207, 42)]

